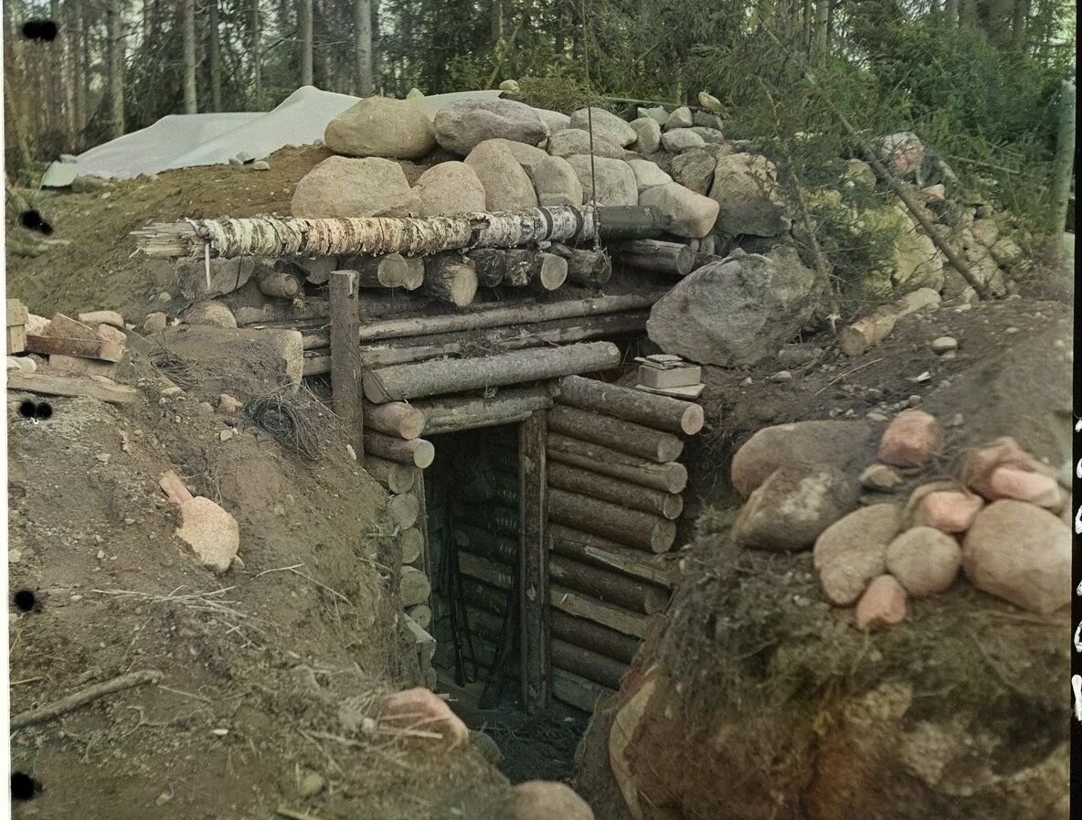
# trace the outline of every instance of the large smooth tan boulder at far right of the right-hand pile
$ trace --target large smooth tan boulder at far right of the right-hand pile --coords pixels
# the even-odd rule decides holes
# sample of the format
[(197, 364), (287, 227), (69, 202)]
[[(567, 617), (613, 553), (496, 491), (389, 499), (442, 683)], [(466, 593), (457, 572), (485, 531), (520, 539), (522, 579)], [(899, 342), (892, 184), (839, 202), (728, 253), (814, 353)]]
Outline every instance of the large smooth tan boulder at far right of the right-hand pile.
[(962, 566), (974, 586), (1016, 607), (1046, 616), (1070, 604), (1070, 528), (1024, 501), (994, 501), (977, 514)]

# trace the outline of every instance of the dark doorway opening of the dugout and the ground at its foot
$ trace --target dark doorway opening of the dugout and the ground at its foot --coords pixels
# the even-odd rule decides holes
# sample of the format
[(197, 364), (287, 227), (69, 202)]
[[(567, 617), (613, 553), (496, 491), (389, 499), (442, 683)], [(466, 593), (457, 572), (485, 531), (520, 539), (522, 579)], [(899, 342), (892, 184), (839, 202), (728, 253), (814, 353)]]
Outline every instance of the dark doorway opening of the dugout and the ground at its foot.
[(555, 699), (529, 714), (520, 692), (518, 425), (432, 441), (424, 481), (439, 691), (494, 741), (512, 782), (566, 779), (590, 714)]

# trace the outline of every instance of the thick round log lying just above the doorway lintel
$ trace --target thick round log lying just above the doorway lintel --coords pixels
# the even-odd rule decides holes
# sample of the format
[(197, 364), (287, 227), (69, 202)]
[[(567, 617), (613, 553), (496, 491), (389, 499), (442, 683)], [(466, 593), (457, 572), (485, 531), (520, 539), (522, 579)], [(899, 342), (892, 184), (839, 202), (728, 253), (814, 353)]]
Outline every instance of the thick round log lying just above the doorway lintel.
[(620, 351), (615, 344), (586, 342), (369, 370), (364, 376), (364, 389), (369, 401), (382, 404), (606, 370), (619, 362)]

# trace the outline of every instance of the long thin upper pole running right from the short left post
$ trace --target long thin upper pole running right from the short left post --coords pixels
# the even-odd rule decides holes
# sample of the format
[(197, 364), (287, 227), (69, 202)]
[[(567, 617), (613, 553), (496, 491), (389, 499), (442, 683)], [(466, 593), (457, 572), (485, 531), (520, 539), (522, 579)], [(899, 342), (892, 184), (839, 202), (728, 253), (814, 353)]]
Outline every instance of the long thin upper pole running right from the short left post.
[[(406, 319), (384, 319), (360, 328), (358, 342), (378, 342), (404, 336), (421, 336), (433, 333), (453, 333), (463, 330), (511, 327), (556, 319), (571, 319), (582, 316), (643, 310), (652, 306), (668, 291), (655, 290), (646, 293), (628, 293), (615, 296), (564, 300), (560, 302), (527, 302), (506, 307), (475, 305), (470, 310), (443, 316), (417, 316)], [(325, 314), (326, 316), (326, 314)]]

